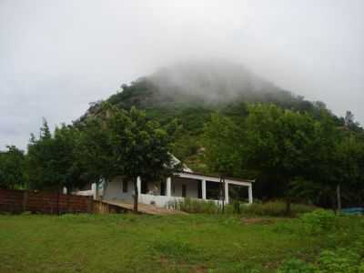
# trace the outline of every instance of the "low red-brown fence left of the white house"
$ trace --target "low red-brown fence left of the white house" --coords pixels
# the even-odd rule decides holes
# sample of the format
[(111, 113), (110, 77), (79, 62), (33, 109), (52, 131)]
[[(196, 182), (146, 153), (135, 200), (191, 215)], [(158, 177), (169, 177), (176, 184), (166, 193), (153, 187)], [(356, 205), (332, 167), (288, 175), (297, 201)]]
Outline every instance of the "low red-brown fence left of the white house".
[(92, 197), (0, 188), (0, 212), (92, 213)]

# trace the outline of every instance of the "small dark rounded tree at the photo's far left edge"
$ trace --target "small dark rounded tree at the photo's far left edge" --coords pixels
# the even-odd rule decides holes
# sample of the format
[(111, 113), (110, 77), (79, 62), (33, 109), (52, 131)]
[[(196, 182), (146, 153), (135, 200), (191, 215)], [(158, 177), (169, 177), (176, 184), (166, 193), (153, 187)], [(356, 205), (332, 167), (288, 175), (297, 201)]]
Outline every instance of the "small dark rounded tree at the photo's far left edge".
[(15, 146), (0, 151), (0, 187), (25, 187), (25, 155)]

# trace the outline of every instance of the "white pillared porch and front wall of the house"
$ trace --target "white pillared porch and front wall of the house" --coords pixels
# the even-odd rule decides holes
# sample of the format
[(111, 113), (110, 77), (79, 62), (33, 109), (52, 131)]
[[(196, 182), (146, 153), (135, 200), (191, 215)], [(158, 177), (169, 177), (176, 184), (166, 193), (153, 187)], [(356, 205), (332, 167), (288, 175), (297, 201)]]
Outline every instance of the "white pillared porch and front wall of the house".
[[(253, 180), (239, 180), (227, 177), (221, 183), (219, 177), (207, 176), (192, 172), (174, 173), (173, 177), (167, 177), (164, 181), (142, 181), (137, 178), (138, 202), (141, 204), (155, 205), (157, 207), (169, 207), (174, 202), (184, 198), (201, 200), (212, 200), (220, 203), (224, 199), (228, 204), (229, 191), (232, 187), (245, 187), (248, 189), (248, 204), (253, 203), (252, 183)], [(104, 192), (105, 200), (132, 201), (134, 195), (134, 184), (116, 177), (110, 181)], [(221, 197), (222, 193), (222, 197)]]

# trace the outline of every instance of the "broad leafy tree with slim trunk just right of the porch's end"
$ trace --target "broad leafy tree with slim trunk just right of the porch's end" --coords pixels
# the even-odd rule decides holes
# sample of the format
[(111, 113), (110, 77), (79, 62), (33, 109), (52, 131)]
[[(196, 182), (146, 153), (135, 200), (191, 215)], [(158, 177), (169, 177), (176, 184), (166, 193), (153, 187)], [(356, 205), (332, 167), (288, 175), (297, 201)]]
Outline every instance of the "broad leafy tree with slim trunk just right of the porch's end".
[(248, 113), (242, 143), (244, 167), (279, 181), (289, 213), (294, 197), (289, 191), (291, 182), (312, 163), (316, 121), (308, 114), (271, 104), (251, 105)]

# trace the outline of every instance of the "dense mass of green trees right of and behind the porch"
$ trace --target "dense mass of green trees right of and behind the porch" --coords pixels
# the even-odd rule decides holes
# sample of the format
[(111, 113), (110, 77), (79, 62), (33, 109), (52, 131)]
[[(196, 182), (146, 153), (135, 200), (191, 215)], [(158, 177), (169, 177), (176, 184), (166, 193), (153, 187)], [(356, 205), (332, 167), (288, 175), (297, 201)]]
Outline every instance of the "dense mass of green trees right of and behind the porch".
[(325, 110), (319, 118), (273, 104), (247, 110), (243, 119), (211, 116), (204, 134), (208, 167), (231, 176), (252, 174), (271, 189), (270, 197), (334, 207), (342, 187), (344, 201), (359, 204), (364, 142), (358, 132), (336, 126)]

